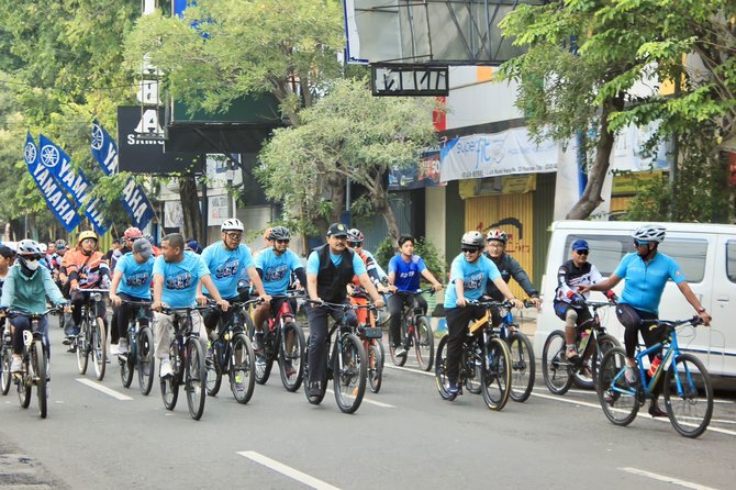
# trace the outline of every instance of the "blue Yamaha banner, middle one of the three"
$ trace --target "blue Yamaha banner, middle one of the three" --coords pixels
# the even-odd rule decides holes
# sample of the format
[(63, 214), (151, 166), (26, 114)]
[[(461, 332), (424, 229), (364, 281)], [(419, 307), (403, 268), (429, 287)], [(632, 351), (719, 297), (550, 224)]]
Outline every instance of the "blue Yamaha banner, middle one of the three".
[(41, 147), (41, 165), (45, 166), (48, 172), (71, 194), (77, 205), (87, 204), (85, 215), (92, 223), (94, 232), (100, 236), (104, 235), (110, 224), (105, 223), (104, 216), (99, 210), (102, 200), (99, 198), (91, 199), (90, 197), (92, 183), (87, 179), (85, 172), (81, 169), (75, 172), (75, 169), (71, 168), (69, 155), (43, 134), (38, 135), (38, 146)]

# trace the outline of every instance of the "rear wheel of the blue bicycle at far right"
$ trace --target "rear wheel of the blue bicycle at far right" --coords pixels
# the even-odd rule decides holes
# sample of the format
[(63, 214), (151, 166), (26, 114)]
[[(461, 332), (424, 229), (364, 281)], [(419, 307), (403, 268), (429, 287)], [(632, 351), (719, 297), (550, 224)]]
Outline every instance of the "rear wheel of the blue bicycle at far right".
[(598, 399), (605, 416), (615, 425), (628, 425), (639, 411), (638, 382), (626, 382), (626, 353), (614, 347), (603, 356), (599, 371)]

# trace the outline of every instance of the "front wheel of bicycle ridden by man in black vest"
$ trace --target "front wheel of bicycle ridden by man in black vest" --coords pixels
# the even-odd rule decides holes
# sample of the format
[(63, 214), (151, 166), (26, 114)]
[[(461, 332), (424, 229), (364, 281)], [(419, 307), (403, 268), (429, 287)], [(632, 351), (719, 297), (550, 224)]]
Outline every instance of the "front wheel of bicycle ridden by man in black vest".
[(366, 393), (366, 350), (354, 334), (344, 335), (341, 347), (333, 359), (335, 400), (344, 413), (354, 413)]

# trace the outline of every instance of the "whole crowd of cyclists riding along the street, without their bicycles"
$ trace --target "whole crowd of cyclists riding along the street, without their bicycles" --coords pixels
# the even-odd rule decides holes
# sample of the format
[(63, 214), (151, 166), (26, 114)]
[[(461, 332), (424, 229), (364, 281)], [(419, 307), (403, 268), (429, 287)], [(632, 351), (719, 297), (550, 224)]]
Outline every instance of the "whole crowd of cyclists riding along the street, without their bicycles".
[[(399, 238), (399, 253), (390, 259), (386, 272), (373, 255), (363, 247), (364, 234), (357, 229), (348, 230), (342, 223), (328, 227), (326, 243), (313, 249), (305, 264), (289, 249), (291, 234), (287, 227), (268, 229), (264, 234), (265, 247), (255, 254), (242, 243), (244, 232), (239, 220), (226, 220), (221, 226), (221, 241), (204, 249), (200, 249), (196, 241), (187, 241), (178, 233), (164, 236), (160, 248), (157, 248), (150, 236), (144, 236), (136, 227), (125, 230), (119, 246), (107, 254), (99, 250), (99, 240), (92, 231), (79, 233), (74, 247), (69, 247), (64, 240), (46, 246), (22, 240), (15, 249), (0, 246), (0, 310), (26, 313), (14, 314), (9, 322), (2, 319), (3, 324), (8, 323), (4, 327), (10, 328), (12, 334), (11, 372), (21, 369), (23, 331), (29, 328), (30, 315), (44, 312), (47, 302), (63, 307), (65, 314), (70, 314), (65, 320), (64, 344), (74, 352), (85, 290), (109, 290), (112, 307), (110, 325), (107, 324), (104, 301), (96, 303), (98, 310), (94, 315), (102, 319), (105, 328), (109, 326), (111, 345), (120, 355), (125, 355), (130, 347), (126, 332), (134, 309), (129, 303), (150, 303), (160, 378), (174, 375), (169, 342), (175, 316), (185, 314), (181, 309), (198, 304), (211, 307), (204, 315), (196, 310), (186, 313), (192, 315), (193, 328), (208, 356), (211, 356), (212, 341), (223, 335), (219, 325), (227, 325), (233, 319), (231, 303), (257, 297), (259, 304), (252, 313), (256, 353), (263, 350), (263, 326), (268, 325), (268, 320), (276, 318), (285, 308), (295, 313), (303, 304), (309, 323), (305, 393), (313, 397), (325, 389), (328, 318), (339, 315), (345, 324), (352, 326), (366, 323), (365, 310), (336, 310), (327, 308), (328, 304), (370, 301), (376, 309), (387, 308), (390, 314), (388, 342), (397, 355), (403, 355), (405, 353), (400, 343), (402, 309), (410, 301), (426, 312), (425, 299), (416, 293), (421, 279), (427, 281), (434, 291), (444, 288), (424, 259), (414, 253), (415, 240), (411, 235)], [(634, 350), (638, 334), (642, 333), (647, 346), (660, 342), (659, 332), (642, 325), (643, 321), (658, 318), (659, 302), (669, 279), (678, 286), (705, 325), (710, 324), (711, 315), (688, 286), (674, 259), (658, 250), (666, 230), (646, 225), (635, 230), (632, 236), (636, 252), (625, 255), (615, 271), (605, 279), (588, 261), (588, 242), (576, 240), (571, 244), (570, 259), (560, 265), (557, 275), (554, 309), (565, 323), (565, 357), (575, 361), (578, 356), (576, 338), (591, 321), (586, 305), (590, 291), (602, 291), (611, 302), (617, 303), (616, 315), (625, 327), (625, 376), (634, 385)], [(458, 369), (468, 325), (486, 314), (486, 309), (477, 300), (506, 301), (513, 308), (524, 308), (524, 302), (514, 297), (508, 285), (513, 278), (528, 296), (528, 301), (536, 308), (540, 307), (539, 293), (528, 275), (518, 261), (505, 253), (508, 242), (508, 234), (501, 230), (490, 230), (487, 234), (469, 231), (461, 236), (460, 253), (451, 260), (444, 294), (448, 330), (446, 376), (450, 396), (457, 396), (459, 391)], [(612, 289), (622, 280), (625, 282), (618, 298)], [(294, 297), (288, 294), (290, 291), (300, 292), (304, 301), (298, 304)], [(492, 322), (498, 325), (500, 315), (494, 313)], [(40, 327), (47, 353), (51, 353), (45, 316)], [(293, 372), (290, 364), (285, 368), (287, 372)], [(657, 405), (656, 397), (649, 413), (653, 416), (665, 414)]]

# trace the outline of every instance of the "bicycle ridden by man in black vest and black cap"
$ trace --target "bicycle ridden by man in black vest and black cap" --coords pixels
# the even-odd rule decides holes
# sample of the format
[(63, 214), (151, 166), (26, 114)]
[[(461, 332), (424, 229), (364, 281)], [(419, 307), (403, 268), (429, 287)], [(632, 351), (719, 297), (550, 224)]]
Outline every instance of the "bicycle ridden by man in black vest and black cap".
[[(328, 303), (314, 300), (308, 301), (314, 304), (315, 308), (322, 307), (334, 311), (342, 311), (343, 315), (339, 316), (327, 331), (326, 343), (328, 356), (324, 376), (320, 380), (320, 393), (310, 397), (309, 390), (305, 390), (306, 399), (310, 403), (315, 405), (322, 403), (325, 392), (327, 391), (327, 380), (332, 379), (337, 407), (344, 413), (354, 413), (360, 407), (360, 402), (366, 392), (366, 350), (363, 348), (363, 343), (355, 334), (355, 328), (345, 323), (344, 313), (349, 310), (373, 307)], [(334, 342), (332, 341), (333, 334), (335, 335)], [(304, 357), (304, 378), (309, 379), (309, 349), (306, 349), (306, 355)]]

